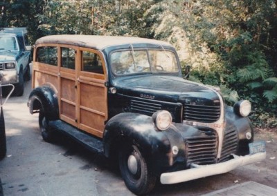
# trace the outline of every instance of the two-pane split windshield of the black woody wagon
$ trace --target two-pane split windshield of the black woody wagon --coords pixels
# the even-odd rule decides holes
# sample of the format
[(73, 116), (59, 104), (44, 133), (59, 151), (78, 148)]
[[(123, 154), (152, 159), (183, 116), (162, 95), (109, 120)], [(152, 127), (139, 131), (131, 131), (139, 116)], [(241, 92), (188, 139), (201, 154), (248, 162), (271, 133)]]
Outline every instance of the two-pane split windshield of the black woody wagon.
[(111, 54), (111, 70), (116, 75), (144, 72), (178, 72), (175, 53), (169, 50), (124, 50)]

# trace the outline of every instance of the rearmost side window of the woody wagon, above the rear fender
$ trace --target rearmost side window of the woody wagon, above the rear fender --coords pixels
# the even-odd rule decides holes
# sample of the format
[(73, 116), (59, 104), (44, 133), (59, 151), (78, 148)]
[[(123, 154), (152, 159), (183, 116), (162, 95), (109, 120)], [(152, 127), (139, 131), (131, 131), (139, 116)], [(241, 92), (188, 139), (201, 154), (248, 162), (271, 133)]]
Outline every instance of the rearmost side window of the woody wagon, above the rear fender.
[(57, 66), (57, 47), (46, 46), (37, 48), (37, 62)]

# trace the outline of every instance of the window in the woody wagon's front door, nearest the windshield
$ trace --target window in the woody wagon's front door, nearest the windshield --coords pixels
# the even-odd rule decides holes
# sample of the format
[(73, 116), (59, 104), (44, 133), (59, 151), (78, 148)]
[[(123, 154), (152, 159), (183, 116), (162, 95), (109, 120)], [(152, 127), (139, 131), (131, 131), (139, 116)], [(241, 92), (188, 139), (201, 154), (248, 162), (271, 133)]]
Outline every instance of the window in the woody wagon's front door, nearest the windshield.
[(104, 74), (100, 56), (93, 52), (82, 51), (82, 71)]

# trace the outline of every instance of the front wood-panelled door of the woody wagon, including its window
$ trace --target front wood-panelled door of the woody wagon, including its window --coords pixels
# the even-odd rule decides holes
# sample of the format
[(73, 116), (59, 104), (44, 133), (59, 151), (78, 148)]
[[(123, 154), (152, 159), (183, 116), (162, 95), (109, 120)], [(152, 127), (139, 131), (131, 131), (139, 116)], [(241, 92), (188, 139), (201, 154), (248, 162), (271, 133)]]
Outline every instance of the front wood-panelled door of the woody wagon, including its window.
[(102, 138), (107, 120), (107, 72), (98, 50), (80, 48), (77, 73), (78, 128)]

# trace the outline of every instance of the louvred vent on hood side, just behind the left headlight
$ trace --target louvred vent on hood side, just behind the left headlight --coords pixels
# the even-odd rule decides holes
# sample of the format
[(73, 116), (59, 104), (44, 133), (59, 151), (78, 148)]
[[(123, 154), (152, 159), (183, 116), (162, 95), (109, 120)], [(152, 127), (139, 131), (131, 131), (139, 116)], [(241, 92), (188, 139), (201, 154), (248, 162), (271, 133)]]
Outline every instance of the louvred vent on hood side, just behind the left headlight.
[(132, 112), (143, 112), (147, 115), (152, 115), (157, 110), (161, 110), (161, 104), (156, 104), (143, 100), (131, 100), (130, 108)]

